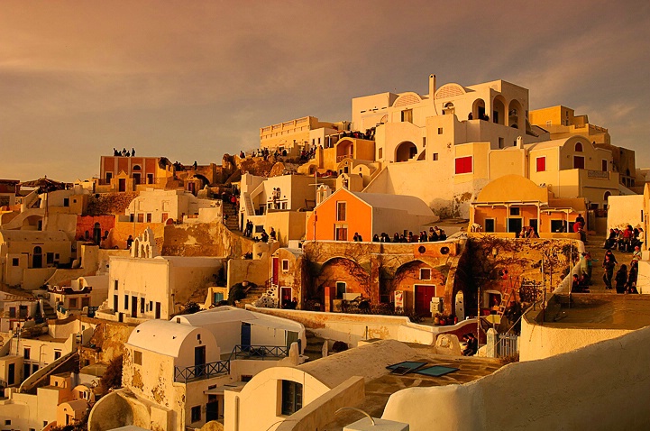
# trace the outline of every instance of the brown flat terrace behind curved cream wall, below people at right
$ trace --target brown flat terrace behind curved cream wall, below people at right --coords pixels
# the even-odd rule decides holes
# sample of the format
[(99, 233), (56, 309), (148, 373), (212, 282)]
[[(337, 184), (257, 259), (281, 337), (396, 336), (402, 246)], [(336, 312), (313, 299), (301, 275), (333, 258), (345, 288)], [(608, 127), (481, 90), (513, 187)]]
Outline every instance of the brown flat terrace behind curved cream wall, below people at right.
[[(565, 328), (628, 329), (650, 326), (650, 295), (572, 293), (556, 295), (544, 325)], [(541, 322), (541, 318), (537, 320)]]

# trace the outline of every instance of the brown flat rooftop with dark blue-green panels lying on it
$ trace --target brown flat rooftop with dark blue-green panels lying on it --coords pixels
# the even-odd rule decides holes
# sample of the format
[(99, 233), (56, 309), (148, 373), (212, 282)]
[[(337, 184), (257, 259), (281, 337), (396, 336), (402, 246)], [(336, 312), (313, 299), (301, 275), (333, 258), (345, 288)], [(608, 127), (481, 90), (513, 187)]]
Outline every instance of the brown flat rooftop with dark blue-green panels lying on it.
[[(448, 356), (436, 354), (433, 346), (405, 344), (417, 351), (415, 357), (408, 358), (408, 362), (426, 362), (426, 367), (441, 365), (444, 367), (458, 368), (459, 370), (445, 374), (444, 376), (433, 377), (415, 372), (410, 372), (405, 375), (391, 374), (391, 371), (387, 369), (380, 377), (366, 381), (366, 397), (360, 406), (355, 407), (361, 408), (372, 417), (381, 417), (389, 397), (398, 390), (467, 383), (487, 376), (499, 370), (502, 366), (502, 363), (497, 359), (478, 358), (475, 356)], [(322, 431), (341, 431), (343, 426), (347, 426), (361, 418), (361, 413), (343, 411), (336, 415), (334, 421), (319, 429), (322, 429)]]

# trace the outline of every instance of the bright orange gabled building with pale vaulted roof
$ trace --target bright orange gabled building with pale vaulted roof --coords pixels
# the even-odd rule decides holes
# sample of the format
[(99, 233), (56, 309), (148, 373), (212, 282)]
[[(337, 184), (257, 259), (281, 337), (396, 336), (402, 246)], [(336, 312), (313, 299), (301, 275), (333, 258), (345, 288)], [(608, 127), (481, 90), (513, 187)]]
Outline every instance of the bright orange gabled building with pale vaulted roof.
[(352, 192), (339, 189), (327, 197), (307, 218), (307, 241), (352, 241), (360, 234), (371, 241), (373, 234), (405, 231), (417, 233), (437, 221), (419, 197)]

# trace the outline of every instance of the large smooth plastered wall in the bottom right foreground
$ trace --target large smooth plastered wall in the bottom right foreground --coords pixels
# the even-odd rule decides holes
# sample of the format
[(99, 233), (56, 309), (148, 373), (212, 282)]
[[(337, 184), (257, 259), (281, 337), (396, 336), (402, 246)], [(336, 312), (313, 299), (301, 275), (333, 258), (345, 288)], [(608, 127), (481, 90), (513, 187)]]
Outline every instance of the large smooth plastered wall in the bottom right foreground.
[[(522, 336), (522, 338), (525, 338)], [(436, 429), (650, 429), (650, 327), (462, 385), (400, 390), (382, 418)], [(434, 408), (422, 408), (434, 406)]]

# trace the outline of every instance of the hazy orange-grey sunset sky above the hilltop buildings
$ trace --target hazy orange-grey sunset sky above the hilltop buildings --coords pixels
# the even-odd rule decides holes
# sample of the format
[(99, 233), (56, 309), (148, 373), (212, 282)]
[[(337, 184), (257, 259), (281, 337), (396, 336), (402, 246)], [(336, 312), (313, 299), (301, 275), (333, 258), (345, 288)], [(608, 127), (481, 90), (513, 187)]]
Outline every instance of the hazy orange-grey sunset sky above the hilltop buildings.
[(0, 2), (0, 179), (99, 174), (113, 148), (190, 164), (352, 97), (504, 79), (650, 168), (650, 2)]

